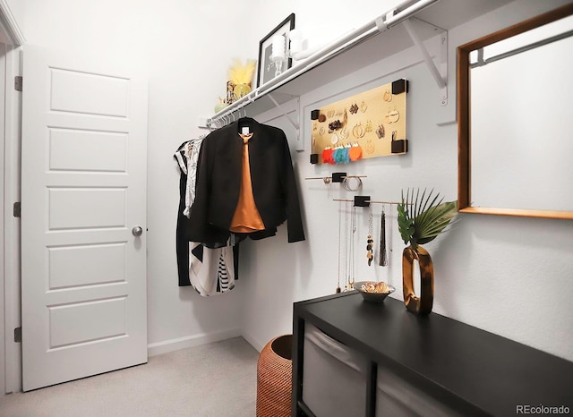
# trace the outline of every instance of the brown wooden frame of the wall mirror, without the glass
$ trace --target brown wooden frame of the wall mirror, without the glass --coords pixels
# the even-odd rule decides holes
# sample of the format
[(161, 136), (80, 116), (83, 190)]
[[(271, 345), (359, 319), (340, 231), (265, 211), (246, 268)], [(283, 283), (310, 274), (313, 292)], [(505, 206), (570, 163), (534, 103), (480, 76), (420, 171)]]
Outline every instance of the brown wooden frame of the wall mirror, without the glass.
[(573, 14), (573, 4), (566, 4), (548, 13), (522, 21), (504, 30), (475, 39), (458, 47), (458, 211), (462, 213), (494, 214), (518, 217), (573, 219), (573, 211), (552, 209), (505, 209), (472, 207), (471, 200), (471, 107), (470, 53), (500, 40), (558, 21)]

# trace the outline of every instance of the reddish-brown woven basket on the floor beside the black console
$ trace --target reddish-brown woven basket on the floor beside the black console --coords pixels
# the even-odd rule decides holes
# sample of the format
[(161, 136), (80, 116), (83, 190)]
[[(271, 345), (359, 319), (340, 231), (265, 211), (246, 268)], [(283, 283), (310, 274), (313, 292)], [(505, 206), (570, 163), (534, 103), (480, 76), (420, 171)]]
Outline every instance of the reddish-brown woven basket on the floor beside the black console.
[(262, 348), (257, 363), (257, 417), (288, 417), (292, 394), (292, 335)]

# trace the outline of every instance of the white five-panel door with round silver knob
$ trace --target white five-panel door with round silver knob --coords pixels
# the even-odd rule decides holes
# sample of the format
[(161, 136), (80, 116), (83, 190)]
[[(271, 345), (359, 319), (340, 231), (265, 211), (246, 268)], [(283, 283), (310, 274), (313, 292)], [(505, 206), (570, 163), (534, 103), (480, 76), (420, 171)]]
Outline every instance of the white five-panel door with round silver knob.
[(70, 58), (24, 50), (24, 391), (147, 362), (147, 81)]

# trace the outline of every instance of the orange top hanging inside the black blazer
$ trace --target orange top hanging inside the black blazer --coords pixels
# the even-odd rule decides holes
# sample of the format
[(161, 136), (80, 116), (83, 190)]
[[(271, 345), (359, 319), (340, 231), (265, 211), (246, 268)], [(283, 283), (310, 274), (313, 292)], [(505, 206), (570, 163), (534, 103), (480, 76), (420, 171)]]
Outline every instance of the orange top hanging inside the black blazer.
[(252, 233), (264, 230), (265, 225), (252, 195), (251, 166), (249, 165), (249, 140), (252, 138), (252, 133), (240, 136), (243, 138), (241, 190), (229, 230), (235, 233)]

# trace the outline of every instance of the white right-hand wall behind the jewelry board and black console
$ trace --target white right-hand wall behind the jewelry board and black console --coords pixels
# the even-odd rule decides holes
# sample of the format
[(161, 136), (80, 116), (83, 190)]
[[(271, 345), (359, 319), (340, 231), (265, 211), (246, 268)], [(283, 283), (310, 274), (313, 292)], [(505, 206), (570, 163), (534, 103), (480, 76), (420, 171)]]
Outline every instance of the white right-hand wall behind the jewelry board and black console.
[[(312, 6), (305, 8), (302, 3), (295, 2), (292, 8), (312, 15)], [(551, 3), (544, 7), (558, 5)], [(366, 9), (359, 9), (364, 20), (373, 17), (364, 12)], [(330, 10), (336, 11), (337, 7), (329, 7)], [(269, 7), (265, 13), (270, 20), (279, 21), (284, 12)], [(449, 106), (455, 106), (455, 47), (542, 12), (543, 4), (539, 2), (519, 1), (449, 30)], [(329, 175), (339, 170), (365, 174), (368, 177), (361, 194), (372, 195), (375, 200), (397, 200), (400, 190), (406, 187), (434, 187), (446, 200), (456, 200), (457, 125), (436, 125), (442, 121), (436, 116), (442, 113), (439, 92), (425, 65), (415, 64), (420, 60), (416, 50), (408, 50), (301, 97), (307, 120), (312, 108), (354, 94), (349, 89), (352, 85), (365, 83), (361, 88), (366, 89), (406, 78), (411, 83), (407, 97), (410, 151), (404, 157), (368, 159), (350, 166), (311, 166), (308, 129), (304, 132), (307, 150), (293, 153), (304, 201), (307, 241), (286, 244), (283, 227), (274, 243), (250, 244), (249, 258), (244, 261), (244, 268), (249, 271), (245, 274), (249, 278), (244, 336), (252, 345), (261, 348), (270, 338), (292, 331), (292, 302), (332, 294), (337, 286), (338, 204), (332, 199), (346, 198), (348, 193), (336, 184), (304, 181), (305, 176)], [(277, 110), (257, 119), (277, 124), (290, 137), (294, 135)], [(378, 226), (381, 208), (374, 210), (374, 225)], [(359, 216), (357, 279), (387, 280), (397, 286), (394, 297), (401, 300), (400, 258), (405, 245), (399, 238), (395, 209), (389, 219), (393, 236), (389, 267), (367, 267), (366, 211)], [(376, 226), (375, 242), (379, 235)], [(461, 215), (449, 233), (426, 247), (432, 254), (435, 271), (433, 311), (573, 360), (573, 305), (569, 302), (573, 296), (573, 223)]]

